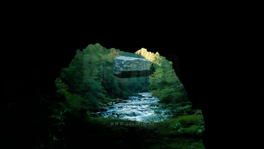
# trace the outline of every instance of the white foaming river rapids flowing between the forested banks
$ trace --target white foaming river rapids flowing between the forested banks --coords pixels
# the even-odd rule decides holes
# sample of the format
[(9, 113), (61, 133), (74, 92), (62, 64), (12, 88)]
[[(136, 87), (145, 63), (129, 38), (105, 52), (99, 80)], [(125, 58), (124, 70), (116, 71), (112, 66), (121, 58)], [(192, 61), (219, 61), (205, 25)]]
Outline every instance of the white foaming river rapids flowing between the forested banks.
[(172, 114), (169, 109), (163, 109), (158, 103), (158, 97), (151, 92), (138, 93), (138, 96), (129, 96), (127, 102), (113, 103), (104, 107), (107, 111), (97, 112), (105, 118), (132, 120), (138, 122), (164, 121)]

